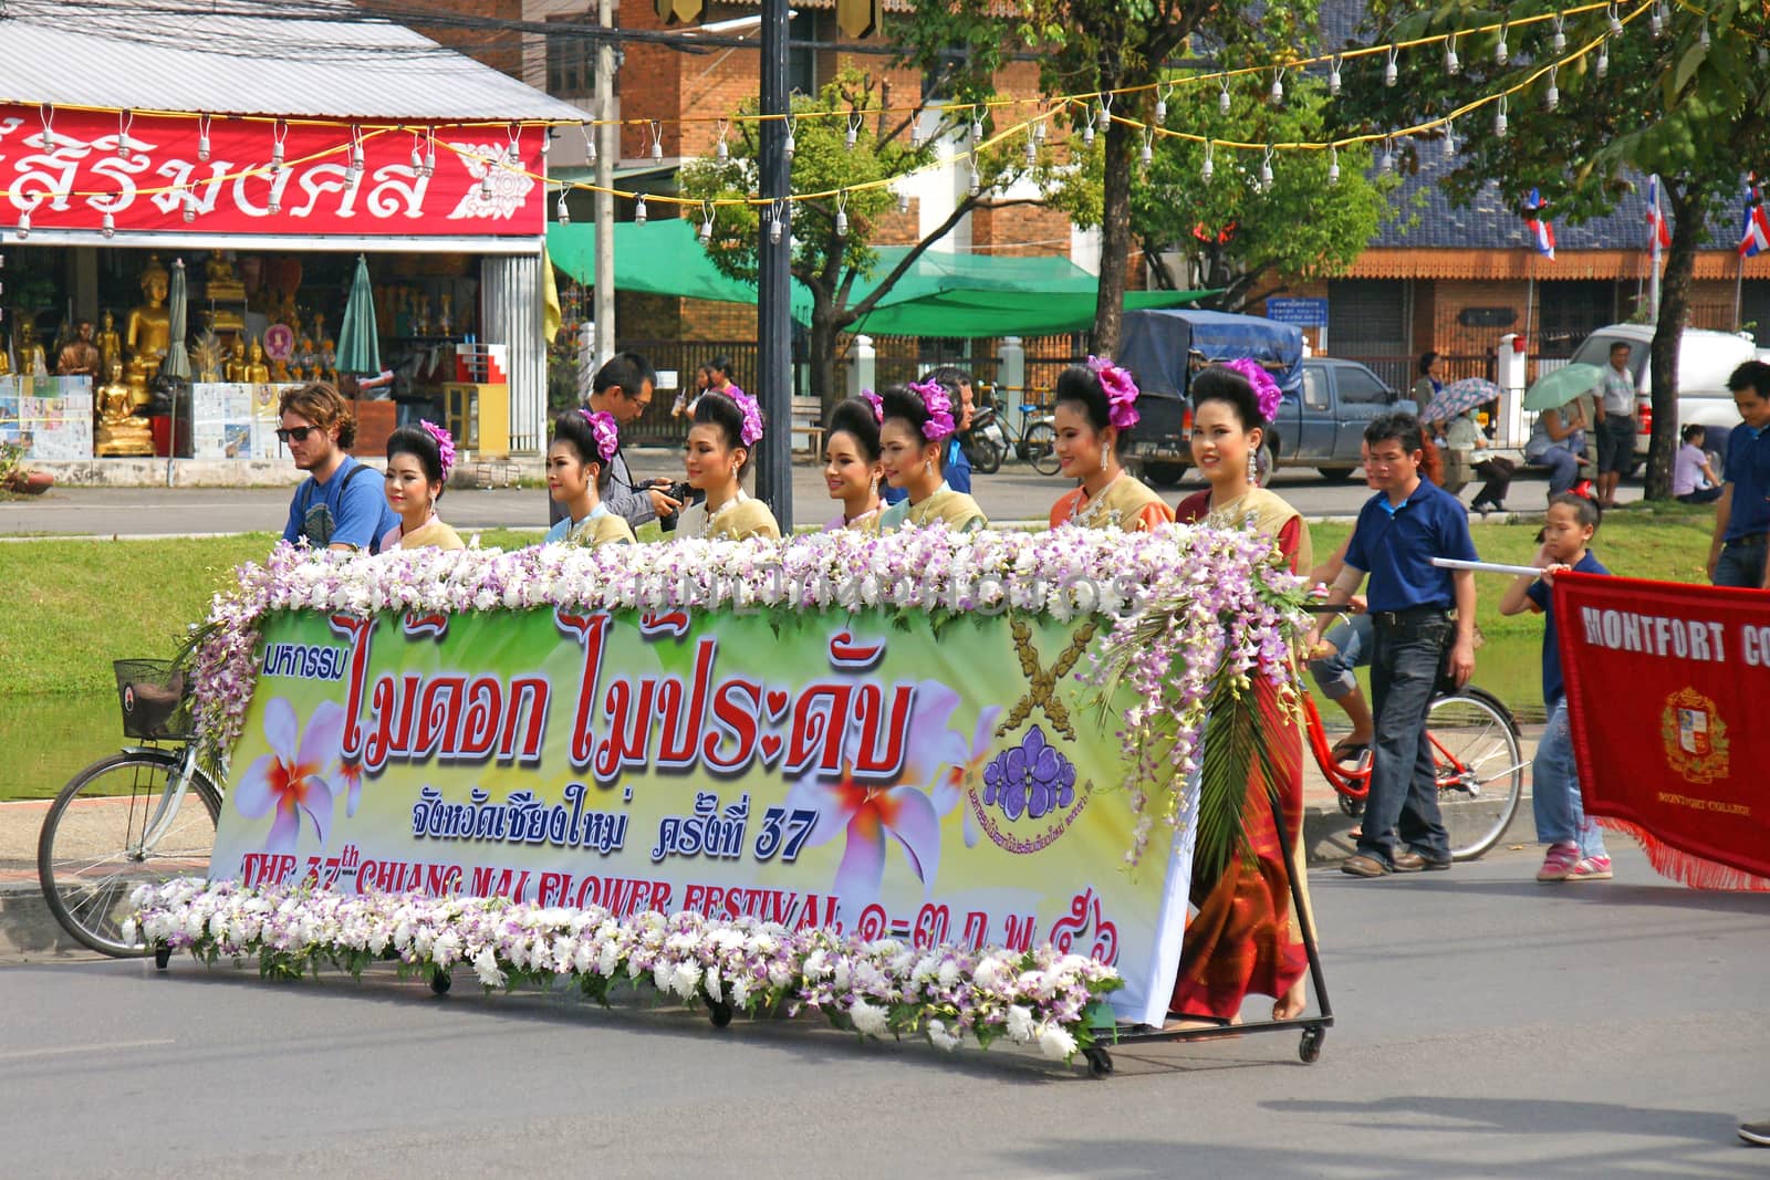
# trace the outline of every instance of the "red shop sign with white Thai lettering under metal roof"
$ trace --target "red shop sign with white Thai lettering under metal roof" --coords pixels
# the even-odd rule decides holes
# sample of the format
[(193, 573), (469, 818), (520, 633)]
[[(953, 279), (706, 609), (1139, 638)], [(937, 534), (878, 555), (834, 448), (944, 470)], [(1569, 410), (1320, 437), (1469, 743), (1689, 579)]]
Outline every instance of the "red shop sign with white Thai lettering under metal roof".
[(533, 237), (543, 134), (0, 104), (0, 230)]

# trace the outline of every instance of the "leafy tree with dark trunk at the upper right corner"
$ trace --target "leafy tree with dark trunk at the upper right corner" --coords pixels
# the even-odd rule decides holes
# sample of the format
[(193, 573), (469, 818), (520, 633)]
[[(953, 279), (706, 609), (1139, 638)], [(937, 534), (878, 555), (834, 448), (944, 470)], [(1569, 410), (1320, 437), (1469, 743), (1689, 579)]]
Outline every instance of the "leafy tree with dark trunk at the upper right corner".
[[(1538, 0), (1499, 12), (1451, 0), (1421, 12), (1405, 0), (1379, 0), (1370, 34), (1374, 42), (1405, 41), (1556, 9)], [(1552, 21), (1512, 28), (1504, 62), (1496, 53), (1499, 34), (1458, 37), (1462, 69), (1455, 76), (1444, 67), (1443, 46), (1404, 51), (1393, 87), (1382, 85), (1381, 58), (1361, 58), (1356, 73), (1349, 67), (1347, 96), (1336, 111), (1345, 127), (1405, 127), (1522, 87), (1506, 101), (1504, 136), (1496, 134), (1494, 106), (1460, 120), (1457, 166), (1446, 179), (1460, 203), (1487, 182), (1496, 182), (1513, 207), (1536, 188), (1558, 221), (1579, 223), (1614, 211), (1635, 179), (1658, 173), (1673, 239), (1650, 361), (1653, 444), (1646, 488), (1650, 499), (1666, 499), (1678, 446), (1678, 343), (1696, 253), (1710, 244), (1710, 218), (1738, 202), (1742, 173), (1770, 147), (1766, 14), (1758, 0), (1680, 0), (1657, 16), (1650, 5), (1621, 5), (1618, 18), (1627, 21), (1621, 32), (1612, 30), (1605, 9), (1565, 18), (1559, 51)], [(1658, 35), (1651, 32), (1655, 23)], [(1552, 76), (1533, 78), (1591, 42), (1604, 42), (1602, 55), (1593, 51)], [(1409, 154), (1434, 149), (1441, 145), (1404, 147)]]

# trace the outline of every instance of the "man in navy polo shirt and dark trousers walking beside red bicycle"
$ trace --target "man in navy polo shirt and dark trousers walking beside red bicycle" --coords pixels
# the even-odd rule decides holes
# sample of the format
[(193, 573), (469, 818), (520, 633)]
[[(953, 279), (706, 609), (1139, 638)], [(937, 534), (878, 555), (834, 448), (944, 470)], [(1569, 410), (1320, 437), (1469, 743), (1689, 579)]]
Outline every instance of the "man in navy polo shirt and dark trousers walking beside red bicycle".
[[(1381, 877), (1450, 869), (1427, 711), (1441, 672), (1448, 670), (1458, 686), (1474, 672), (1474, 575), (1439, 570), (1432, 559), (1474, 561), (1476, 554), (1462, 502), (1420, 474), (1427, 449), (1420, 419), (1384, 414), (1365, 428), (1365, 474), (1377, 494), (1358, 513), (1328, 603), (1347, 601), (1370, 575), (1377, 736), (1370, 745), (1365, 828), (1358, 853), (1340, 869), (1354, 877)], [(1397, 837), (1407, 847), (1398, 849)]]

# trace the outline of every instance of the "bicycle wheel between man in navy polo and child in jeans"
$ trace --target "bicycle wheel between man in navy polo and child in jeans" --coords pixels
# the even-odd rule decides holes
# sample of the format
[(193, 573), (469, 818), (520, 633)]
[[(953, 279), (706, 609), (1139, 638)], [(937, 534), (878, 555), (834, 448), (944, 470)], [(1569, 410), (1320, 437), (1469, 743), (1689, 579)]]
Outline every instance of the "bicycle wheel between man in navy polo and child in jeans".
[(1464, 688), (1432, 702), (1427, 741), (1451, 860), (1474, 860), (1499, 842), (1519, 812), (1528, 764), (1519, 725), (1497, 699)]

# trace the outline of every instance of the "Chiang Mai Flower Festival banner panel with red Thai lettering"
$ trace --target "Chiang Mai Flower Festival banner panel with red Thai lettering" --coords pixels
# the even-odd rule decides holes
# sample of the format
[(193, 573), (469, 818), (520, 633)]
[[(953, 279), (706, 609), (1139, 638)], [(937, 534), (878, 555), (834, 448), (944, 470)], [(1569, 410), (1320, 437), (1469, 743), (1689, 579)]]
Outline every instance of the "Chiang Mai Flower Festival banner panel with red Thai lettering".
[[(1043, 941), (1159, 1023), (1189, 846), (1131, 870), (1090, 621), (565, 609), (266, 619), (211, 869), (248, 885)], [(1119, 702), (1122, 704), (1122, 702)]]

